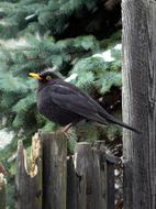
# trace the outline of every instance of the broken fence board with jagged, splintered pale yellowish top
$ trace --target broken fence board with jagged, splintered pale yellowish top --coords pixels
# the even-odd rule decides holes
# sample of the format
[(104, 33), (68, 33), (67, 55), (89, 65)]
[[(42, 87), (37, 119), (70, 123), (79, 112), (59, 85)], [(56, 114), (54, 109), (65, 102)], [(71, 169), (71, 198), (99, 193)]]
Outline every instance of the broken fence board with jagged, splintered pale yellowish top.
[(42, 209), (42, 148), (37, 135), (32, 141), (32, 155), (27, 164), (23, 143), (19, 142), (16, 157), (16, 209)]

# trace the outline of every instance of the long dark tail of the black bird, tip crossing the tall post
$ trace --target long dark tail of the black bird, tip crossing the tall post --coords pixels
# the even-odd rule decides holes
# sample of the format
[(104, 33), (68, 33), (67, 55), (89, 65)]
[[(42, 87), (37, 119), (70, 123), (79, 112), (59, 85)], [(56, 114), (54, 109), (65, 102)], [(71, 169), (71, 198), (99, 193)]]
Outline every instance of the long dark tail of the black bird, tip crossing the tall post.
[(138, 130), (136, 130), (135, 128), (133, 128), (133, 127), (131, 127), (131, 125), (129, 125), (129, 124), (126, 124), (126, 123), (120, 121), (119, 119), (112, 117), (111, 114), (108, 114), (107, 117), (104, 116), (104, 118), (105, 118), (107, 121), (110, 122), (110, 123), (119, 124), (119, 125), (121, 125), (121, 127), (123, 127), (123, 128), (125, 128), (125, 129), (129, 129), (129, 130), (131, 130), (131, 131), (134, 131), (135, 133), (138, 133), (138, 134), (141, 133), (141, 132), (140, 132)]

